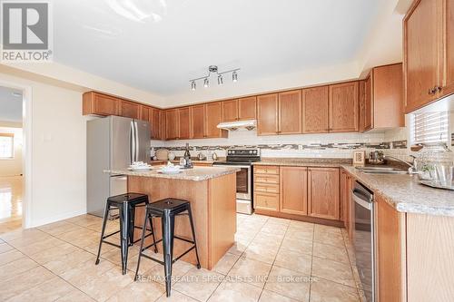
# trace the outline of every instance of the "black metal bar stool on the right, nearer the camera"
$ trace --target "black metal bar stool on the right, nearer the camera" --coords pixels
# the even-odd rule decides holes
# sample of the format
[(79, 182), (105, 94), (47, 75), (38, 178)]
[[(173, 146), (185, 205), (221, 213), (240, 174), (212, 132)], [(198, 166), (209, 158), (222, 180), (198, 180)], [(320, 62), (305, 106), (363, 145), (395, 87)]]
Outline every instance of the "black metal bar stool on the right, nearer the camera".
[[(185, 213), (186, 212), (186, 213)], [(189, 222), (191, 223), (191, 230), (192, 230), (192, 240), (184, 239), (182, 237), (176, 236), (174, 234), (174, 227), (175, 227), (175, 216), (179, 215), (188, 215)], [(162, 219), (162, 228), (163, 228), (163, 239), (159, 239), (158, 241), (153, 241), (152, 244), (143, 247), (143, 242), (145, 238), (145, 231), (147, 220), (152, 221), (153, 217), (160, 217)], [(177, 258), (173, 258), (173, 239), (180, 239), (185, 242), (192, 243), (192, 247), (183, 252), (182, 255), (178, 256)], [(151, 258), (143, 252), (151, 247), (156, 247), (156, 243), (163, 241), (163, 261), (158, 260), (156, 258)], [(141, 249), (139, 252), (139, 259), (137, 261), (137, 269), (135, 270), (135, 278), (134, 281), (137, 280), (139, 267), (141, 263), (141, 258), (148, 258), (155, 262), (158, 262), (164, 266), (164, 273), (165, 273), (165, 292), (166, 296), (170, 297), (171, 293), (171, 285), (172, 285), (172, 265), (178, 259), (182, 258), (184, 255), (189, 253), (192, 249), (195, 249), (195, 257), (197, 258), (197, 268), (201, 268), (200, 260), (199, 260), (199, 253), (197, 252), (197, 244), (195, 242), (195, 230), (194, 224), (192, 220), (192, 211), (191, 211), (191, 204), (187, 200), (176, 200), (176, 199), (164, 199), (159, 200), (153, 203), (150, 203), (146, 206), (145, 211), (145, 218), (143, 219), (143, 231), (142, 231), (142, 242), (141, 242)]]

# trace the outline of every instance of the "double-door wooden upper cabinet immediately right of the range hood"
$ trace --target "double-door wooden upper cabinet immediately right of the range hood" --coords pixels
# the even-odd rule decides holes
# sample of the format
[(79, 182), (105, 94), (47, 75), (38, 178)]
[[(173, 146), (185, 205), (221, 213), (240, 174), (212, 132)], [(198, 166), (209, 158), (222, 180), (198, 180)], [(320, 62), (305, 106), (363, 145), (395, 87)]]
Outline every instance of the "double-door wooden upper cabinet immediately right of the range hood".
[(260, 95), (257, 112), (258, 135), (301, 133), (301, 90)]

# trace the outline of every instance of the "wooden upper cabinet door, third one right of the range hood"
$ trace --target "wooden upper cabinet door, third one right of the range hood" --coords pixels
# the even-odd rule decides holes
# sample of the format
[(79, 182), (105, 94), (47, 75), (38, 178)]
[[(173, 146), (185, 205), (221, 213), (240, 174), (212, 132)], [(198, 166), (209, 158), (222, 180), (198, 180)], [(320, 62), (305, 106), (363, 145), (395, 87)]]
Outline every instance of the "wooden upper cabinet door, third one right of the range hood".
[(329, 89), (328, 86), (302, 90), (302, 132), (329, 132)]

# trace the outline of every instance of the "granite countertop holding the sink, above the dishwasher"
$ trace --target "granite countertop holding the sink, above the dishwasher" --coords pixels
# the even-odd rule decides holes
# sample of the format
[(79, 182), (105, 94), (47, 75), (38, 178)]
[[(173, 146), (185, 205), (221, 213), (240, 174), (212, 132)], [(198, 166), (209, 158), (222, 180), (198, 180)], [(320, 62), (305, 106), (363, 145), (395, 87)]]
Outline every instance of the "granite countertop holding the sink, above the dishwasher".
[(421, 185), (417, 175), (365, 174), (350, 165), (342, 168), (400, 212), (454, 217), (453, 190)]

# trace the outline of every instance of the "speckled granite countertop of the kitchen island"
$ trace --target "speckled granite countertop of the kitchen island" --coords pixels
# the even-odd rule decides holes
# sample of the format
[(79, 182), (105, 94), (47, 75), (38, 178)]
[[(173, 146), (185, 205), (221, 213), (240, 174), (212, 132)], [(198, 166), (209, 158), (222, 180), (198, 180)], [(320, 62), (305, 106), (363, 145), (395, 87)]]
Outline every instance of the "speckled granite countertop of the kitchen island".
[(192, 169), (183, 170), (178, 174), (163, 174), (158, 172), (161, 167), (153, 167), (152, 170), (147, 171), (132, 171), (132, 170), (104, 170), (105, 173), (121, 174), (130, 176), (142, 176), (151, 178), (161, 178), (170, 180), (193, 180), (202, 181), (210, 180), (223, 175), (236, 173), (239, 168), (235, 167), (194, 167)]

